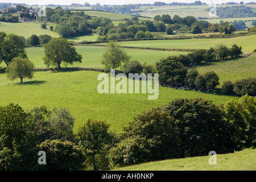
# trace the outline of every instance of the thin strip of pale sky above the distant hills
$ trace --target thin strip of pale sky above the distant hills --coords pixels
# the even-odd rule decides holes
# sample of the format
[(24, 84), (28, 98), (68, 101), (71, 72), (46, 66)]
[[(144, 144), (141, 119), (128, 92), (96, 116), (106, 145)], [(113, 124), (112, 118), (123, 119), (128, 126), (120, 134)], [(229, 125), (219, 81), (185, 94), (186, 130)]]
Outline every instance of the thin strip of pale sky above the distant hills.
[[(90, 3), (90, 5), (95, 5), (96, 3), (100, 3), (101, 5), (125, 5), (125, 4), (137, 4), (137, 3), (154, 3), (156, 1), (160, 2), (186, 2), (191, 3), (196, 0), (0, 0), (1, 3), (26, 3), (27, 5), (71, 5), (72, 3), (84, 4), (85, 2)], [(201, 2), (205, 2), (207, 4), (221, 4), (226, 2), (255, 2), (255, 0), (200, 0)]]

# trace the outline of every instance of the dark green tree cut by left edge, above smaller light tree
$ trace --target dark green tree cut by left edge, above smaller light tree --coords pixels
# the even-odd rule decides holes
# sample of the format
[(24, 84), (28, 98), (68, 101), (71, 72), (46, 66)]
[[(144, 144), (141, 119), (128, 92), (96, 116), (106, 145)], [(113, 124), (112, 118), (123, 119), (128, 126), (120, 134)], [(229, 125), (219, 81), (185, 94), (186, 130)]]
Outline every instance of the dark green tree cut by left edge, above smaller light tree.
[(5, 32), (0, 32), (0, 63), (5, 61), (5, 64), (9, 63), (14, 57), (26, 58), (26, 44), (21, 36), (15, 34), (6, 35)]

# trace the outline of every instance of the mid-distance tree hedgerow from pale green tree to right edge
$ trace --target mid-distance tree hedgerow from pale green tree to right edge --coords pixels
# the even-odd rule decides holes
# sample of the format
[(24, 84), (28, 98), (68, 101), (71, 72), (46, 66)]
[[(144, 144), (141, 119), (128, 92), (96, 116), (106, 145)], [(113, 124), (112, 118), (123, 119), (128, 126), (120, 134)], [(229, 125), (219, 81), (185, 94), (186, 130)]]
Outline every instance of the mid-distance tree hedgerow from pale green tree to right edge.
[[(200, 89), (215, 89), (217, 85), (220, 85), (219, 77), (214, 71), (205, 73), (204, 75), (199, 74), (196, 69), (188, 69), (192, 65), (198, 65), (205, 61), (213, 61), (216, 59), (225, 59), (226, 51), (228, 56), (232, 57), (239, 56), (241, 54), (241, 47), (236, 44), (232, 48), (227, 48), (223, 45), (211, 48), (210, 50), (200, 49), (188, 53), (188, 55), (169, 56), (165, 59), (160, 60), (155, 65), (147, 65), (147, 63), (139, 63), (131, 59), (130, 55), (117, 44), (116, 42), (110, 42), (106, 44), (106, 52), (102, 55), (101, 64), (104, 64), (105, 71), (109, 72), (110, 69), (121, 68), (123, 73), (159, 73), (159, 81), (162, 84), (186, 84), (191, 87)], [(230, 53), (232, 52), (232, 53)], [(215, 56), (212, 56), (216, 54)], [(210, 57), (210, 58), (209, 58)], [(232, 88), (232, 92), (228, 92), (228, 86), (225, 82), (222, 85), (222, 91), (225, 94), (241, 94), (248, 93), (250, 96), (255, 95), (254, 83), (255, 81), (238, 81)], [(235, 88), (235, 89), (234, 89)], [(233, 89), (236, 90), (233, 92)]]

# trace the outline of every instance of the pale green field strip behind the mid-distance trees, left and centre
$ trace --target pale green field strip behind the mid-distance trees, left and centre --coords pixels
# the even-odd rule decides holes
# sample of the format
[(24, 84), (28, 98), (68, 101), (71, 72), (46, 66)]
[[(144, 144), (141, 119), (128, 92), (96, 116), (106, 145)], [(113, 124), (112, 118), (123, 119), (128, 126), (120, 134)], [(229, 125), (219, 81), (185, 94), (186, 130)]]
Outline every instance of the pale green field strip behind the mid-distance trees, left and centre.
[[(104, 68), (104, 65), (101, 63), (101, 55), (105, 52), (104, 47), (96, 46), (76, 46), (77, 52), (80, 53), (83, 57), (82, 63), (75, 63), (73, 67), (92, 67), (92, 68)], [(28, 58), (35, 64), (36, 68), (46, 68), (44, 65), (43, 56), (44, 48), (43, 47), (32, 47), (27, 48)], [(187, 54), (188, 52), (176, 52), (176, 51), (153, 51), (153, 50), (141, 50), (141, 49), (125, 49), (125, 51), (131, 55), (132, 60), (138, 60), (140, 63), (146, 61), (148, 64), (154, 64), (156, 61), (164, 57), (171, 55), (180, 55)], [(69, 65), (68, 67), (70, 67)], [(6, 67), (5, 63), (2, 63), (0, 67)]]

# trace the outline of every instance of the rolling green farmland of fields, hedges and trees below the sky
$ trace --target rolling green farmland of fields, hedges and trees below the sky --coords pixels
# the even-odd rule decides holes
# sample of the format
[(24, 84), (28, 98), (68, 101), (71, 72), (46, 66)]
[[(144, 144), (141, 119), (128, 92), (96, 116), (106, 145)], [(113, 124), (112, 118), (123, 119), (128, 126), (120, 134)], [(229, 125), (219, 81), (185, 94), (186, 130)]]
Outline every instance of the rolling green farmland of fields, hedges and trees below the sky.
[[(131, 19), (131, 13), (79, 5), (65, 6), (79, 10), (72, 11), (75, 14), (48, 9), (47, 29), (41, 28), (42, 22), (1, 19), (0, 32), (7, 35), (0, 36), (0, 170), (52, 170), (55, 163), (60, 170), (255, 170), (256, 107), (251, 96), (256, 84), (256, 30), (233, 32), (229, 23), (211, 27), (199, 22), (199, 16), (212, 23), (221, 20), (210, 19), (208, 5), (136, 7), (143, 10), (134, 11), (144, 16), (139, 20)], [(196, 18), (168, 27), (170, 17), (152, 19), (161, 14)], [(216, 32), (225, 29), (222, 26), (230, 30), (223, 37)], [(170, 27), (179, 32), (174, 34)], [(125, 73), (122, 79), (108, 72), (113, 68)], [(129, 89), (137, 82), (126, 77), (129, 73), (146, 73), (153, 80), (158, 77), (148, 73), (158, 73), (159, 82), (153, 85), (159, 90), (150, 93), (152, 83), (139, 80), (139, 86), (147, 86), (146, 93), (118, 93), (118, 86)], [(247, 80), (236, 82), (243, 78)], [(102, 82), (110, 93), (99, 92)], [(157, 99), (150, 100), (153, 94)], [(46, 166), (34, 162), (34, 150), (47, 151)], [(67, 161), (55, 160), (56, 151)], [(220, 152), (217, 165), (208, 164), (208, 151)]]

